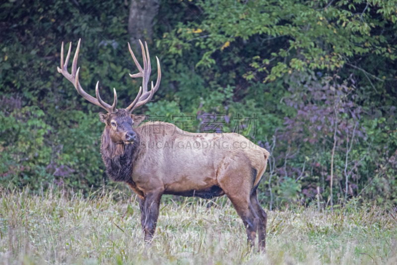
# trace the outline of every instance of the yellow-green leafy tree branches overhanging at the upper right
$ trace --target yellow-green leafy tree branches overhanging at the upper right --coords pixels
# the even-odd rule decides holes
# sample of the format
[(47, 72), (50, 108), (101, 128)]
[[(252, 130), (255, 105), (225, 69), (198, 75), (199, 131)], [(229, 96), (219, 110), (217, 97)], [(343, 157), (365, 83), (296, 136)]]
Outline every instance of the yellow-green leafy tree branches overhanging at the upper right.
[[(256, 49), (250, 64), (255, 71), (247, 72), (248, 80), (261, 72), (266, 73), (265, 81), (274, 81), (292, 71), (333, 71), (351, 63), (356, 55), (396, 59), (396, 48), (389, 43), (391, 36), (384, 35), (388, 23), (397, 19), (396, 3), (379, 0), (358, 0), (354, 4), (340, 0), (332, 5), (324, 0), (257, 0), (245, 4), (234, 0), (198, 1), (206, 14), (203, 19), (180, 22), (166, 36), (165, 43), (172, 47), (169, 52), (180, 55), (181, 49), (175, 49), (176, 46), (182, 50), (199, 47), (206, 51), (197, 64), (206, 67), (215, 64), (211, 58), (213, 53), (237, 51), (234, 45), (238, 46), (241, 41), (249, 45), (247, 42), (253, 37), (268, 46), (279, 43), (276, 49), (270, 48), (267, 52)], [(364, 10), (357, 12), (361, 6)], [(387, 30), (395, 29), (393, 25)]]

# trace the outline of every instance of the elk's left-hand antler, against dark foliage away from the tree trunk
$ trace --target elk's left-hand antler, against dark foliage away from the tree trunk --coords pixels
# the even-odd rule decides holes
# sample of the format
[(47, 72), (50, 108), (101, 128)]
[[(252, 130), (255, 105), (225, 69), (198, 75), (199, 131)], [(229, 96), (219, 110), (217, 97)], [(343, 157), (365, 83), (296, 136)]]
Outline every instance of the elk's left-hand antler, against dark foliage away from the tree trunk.
[[(116, 110), (116, 105), (117, 105), (117, 94), (116, 94), (116, 88), (113, 88), (114, 91), (114, 101), (113, 101), (113, 105), (110, 106), (109, 104), (107, 104), (106, 102), (104, 102), (101, 97), (99, 96), (99, 91), (98, 91), (98, 84), (99, 81), (96, 83), (95, 86), (95, 94), (97, 98), (94, 98), (92, 96), (90, 96), (89, 94), (87, 94), (82, 88), (81, 85), (78, 81), (78, 71), (80, 70), (80, 67), (78, 67), (78, 69), (76, 70), (77, 67), (77, 57), (78, 57), (78, 51), (80, 50), (80, 40), (78, 40), (78, 44), (77, 44), (77, 49), (76, 49), (76, 53), (74, 54), (74, 58), (73, 58), (73, 63), (71, 66), (71, 73), (69, 73), (67, 71), (67, 63), (69, 62), (69, 56), (70, 56), (70, 49), (71, 49), (71, 42), (69, 45), (69, 51), (67, 52), (67, 56), (66, 56), (66, 61), (64, 64), (64, 43), (62, 42), (62, 48), (61, 48), (61, 68), (58, 67), (58, 72), (62, 73), (67, 80), (69, 80), (70, 82), (73, 83), (74, 87), (76, 88), (77, 92), (86, 100), (88, 100), (89, 102), (104, 108), (105, 110), (107, 110), (109, 113), (112, 113)], [(157, 84), (156, 84), (157, 85)]]

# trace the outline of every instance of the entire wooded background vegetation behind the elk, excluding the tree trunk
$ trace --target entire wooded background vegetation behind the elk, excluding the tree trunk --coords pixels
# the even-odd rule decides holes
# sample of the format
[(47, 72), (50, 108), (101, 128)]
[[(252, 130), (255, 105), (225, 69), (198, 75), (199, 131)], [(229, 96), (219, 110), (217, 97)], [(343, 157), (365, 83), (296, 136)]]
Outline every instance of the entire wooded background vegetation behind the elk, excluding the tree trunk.
[[(149, 50), (163, 77), (137, 113), (167, 122), (194, 115), (192, 132), (207, 129), (208, 115), (225, 115), (224, 132), (238, 129), (271, 151), (259, 187), (270, 209), (336, 207), (351, 198), (396, 204), (396, 6), (162, 0)], [(99, 109), (56, 67), (61, 43), (72, 41), (74, 51), (81, 38), (82, 86), (93, 95), (100, 80), (103, 99), (116, 87), (119, 106), (128, 106), (141, 82), (128, 75), (136, 71), (127, 49), (129, 3), (9, 0), (0, 7), (0, 184), (56, 185), (85, 196), (113, 185), (99, 153)], [(258, 120), (245, 119), (254, 114)]]

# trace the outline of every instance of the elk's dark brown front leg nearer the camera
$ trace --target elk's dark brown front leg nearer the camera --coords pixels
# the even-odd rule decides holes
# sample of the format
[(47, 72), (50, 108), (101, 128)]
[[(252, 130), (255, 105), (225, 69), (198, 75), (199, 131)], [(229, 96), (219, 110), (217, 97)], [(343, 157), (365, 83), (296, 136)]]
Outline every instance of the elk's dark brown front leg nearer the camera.
[[(158, 211), (160, 207), (160, 199), (163, 191), (153, 191), (145, 194), (143, 206), (144, 215), (143, 230), (145, 232), (145, 241), (150, 242), (156, 230)], [(142, 215), (141, 215), (142, 221)]]

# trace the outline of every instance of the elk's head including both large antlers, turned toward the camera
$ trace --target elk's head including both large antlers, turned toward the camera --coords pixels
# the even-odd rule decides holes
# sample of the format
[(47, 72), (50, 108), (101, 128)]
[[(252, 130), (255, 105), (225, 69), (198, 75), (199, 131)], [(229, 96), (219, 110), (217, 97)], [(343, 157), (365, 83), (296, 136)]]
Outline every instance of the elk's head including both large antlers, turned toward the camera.
[(117, 109), (116, 108), (117, 94), (115, 88), (113, 88), (114, 100), (112, 106), (104, 102), (99, 96), (99, 91), (98, 91), (99, 81), (96, 83), (96, 87), (95, 87), (96, 98), (90, 96), (81, 88), (81, 85), (78, 81), (78, 72), (80, 70), (80, 67), (77, 68), (77, 57), (80, 49), (80, 40), (78, 41), (76, 53), (74, 54), (71, 73), (67, 71), (67, 63), (70, 57), (71, 42), (69, 45), (69, 51), (67, 52), (65, 62), (64, 62), (64, 43), (62, 43), (61, 68), (58, 67), (58, 72), (62, 73), (67, 80), (73, 83), (77, 92), (83, 98), (107, 111), (107, 113), (103, 113), (103, 112), (99, 113), (99, 119), (101, 122), (106, 124), (105, 131), (109, 132), (109, 137), (112, 140), (112, 142), (125, 143), (125, 144), (132, 143), (136, 138), (136, 133), (134, 132), (133, 128), (138, 126), (144, 119), (143, 115), (139, 115), (139, 116), (133, 115), (132, 111), (137, 107), (147, 103), (153, 97), (153, 94), (157, 91), (157, 89), (160, 86), (161, 69), (158, 58), (156, 57), (157, 68), (158, 68), (156, 85), (153, 87), (153, 82), (151, 82), (151, 90), (147, 91), (147, 83), (149, 82), (149, 77), (151, 72), (150, 57), (149, 57), (149, 51), (147, 49), (147, 44), (145, 42), (145, 48), (146, 48), (146, 52), (145, 52), (145, 49), (143, 48), (143, 44), (139, 40), (142, 49), (143, 69), (136, 60), (135, 55), (131, 50), (130, 43), (128, 44), (128, 48), (130, 50), (132, 59), (139, 70), (138, 73), (130, 74), (130, 76), (142, 77), (143, 78), (142, 86), (139, 88), (139, 92), (136, 98), (134, 99), (134, 101), (132, 101), (132, 103), (130, 104), (130, 106), (128, 106), (126, 109)]

